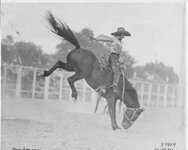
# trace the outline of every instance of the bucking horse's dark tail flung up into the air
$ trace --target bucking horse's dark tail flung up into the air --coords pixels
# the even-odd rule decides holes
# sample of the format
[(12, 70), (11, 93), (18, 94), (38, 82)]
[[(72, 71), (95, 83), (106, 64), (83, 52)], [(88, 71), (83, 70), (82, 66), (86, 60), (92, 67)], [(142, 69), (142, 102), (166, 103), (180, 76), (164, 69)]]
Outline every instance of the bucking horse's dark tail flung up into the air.
[(50, 30), (54, 34), (63, 37), (65, 40), (72, 43), (77, 49), (80, 48), (80, 44), (78, 43), (76, 37), (65, 22), (61, 22), (59, 19), (56, 19), (50, 11), (48, 11), (46, 19), (50, 25)]

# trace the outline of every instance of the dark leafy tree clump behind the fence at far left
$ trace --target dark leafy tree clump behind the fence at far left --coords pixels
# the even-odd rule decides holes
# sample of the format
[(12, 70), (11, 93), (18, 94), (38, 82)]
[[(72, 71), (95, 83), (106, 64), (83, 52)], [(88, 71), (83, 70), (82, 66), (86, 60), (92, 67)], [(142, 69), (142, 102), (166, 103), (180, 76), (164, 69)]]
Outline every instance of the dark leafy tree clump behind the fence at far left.
[(14, 42), (12, 36), (2, 40), (2, 62), (21, 64), (24, 66), (43, 66), (48, 62), (40, 46), (31, 42)]

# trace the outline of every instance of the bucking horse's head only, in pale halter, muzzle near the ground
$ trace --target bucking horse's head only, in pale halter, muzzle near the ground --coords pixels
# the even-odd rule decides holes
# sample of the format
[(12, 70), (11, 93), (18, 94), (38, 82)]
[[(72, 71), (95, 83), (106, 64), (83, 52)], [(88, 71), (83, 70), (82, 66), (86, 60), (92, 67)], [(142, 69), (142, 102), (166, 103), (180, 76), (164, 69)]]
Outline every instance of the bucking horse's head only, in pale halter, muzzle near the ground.
[(132, 126), (138, 116), (144, 111), (143, 108), (127, 108), (124, 111), (123, 121), (121, 123), (124, 129), (128, 129)]

